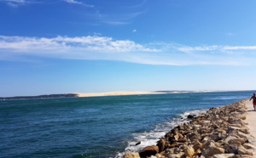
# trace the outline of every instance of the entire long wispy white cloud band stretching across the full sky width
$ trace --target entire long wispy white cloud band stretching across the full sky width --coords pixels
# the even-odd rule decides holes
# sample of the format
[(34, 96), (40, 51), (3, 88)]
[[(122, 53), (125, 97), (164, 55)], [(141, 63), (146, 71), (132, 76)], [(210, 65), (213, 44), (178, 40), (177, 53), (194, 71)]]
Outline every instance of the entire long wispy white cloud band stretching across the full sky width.
[(112, 37), (0, 36), (0, 59), (44, 56), (57, 59), (105, 59), (148, 65), (255, 65), (256, 46), (197, 46), (152, 42), (140, 44)]

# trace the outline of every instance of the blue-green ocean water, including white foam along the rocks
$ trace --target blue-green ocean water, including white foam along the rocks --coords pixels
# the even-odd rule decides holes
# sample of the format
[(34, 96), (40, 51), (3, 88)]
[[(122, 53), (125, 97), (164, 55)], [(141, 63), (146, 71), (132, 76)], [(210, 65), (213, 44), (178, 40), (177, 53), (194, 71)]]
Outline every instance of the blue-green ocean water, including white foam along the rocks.
[[(0, 101), (0, 157), (121, 157), (252, 91)], [(141, 141), (142, 143), (135, 146)]]

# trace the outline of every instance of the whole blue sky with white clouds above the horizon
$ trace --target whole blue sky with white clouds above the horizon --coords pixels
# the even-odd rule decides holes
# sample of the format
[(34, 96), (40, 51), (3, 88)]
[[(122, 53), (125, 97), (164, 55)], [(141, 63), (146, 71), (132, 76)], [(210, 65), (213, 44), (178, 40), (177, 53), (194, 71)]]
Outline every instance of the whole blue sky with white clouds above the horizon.
[(0, 0), (0, 97), (255, 90), (254, 0)]

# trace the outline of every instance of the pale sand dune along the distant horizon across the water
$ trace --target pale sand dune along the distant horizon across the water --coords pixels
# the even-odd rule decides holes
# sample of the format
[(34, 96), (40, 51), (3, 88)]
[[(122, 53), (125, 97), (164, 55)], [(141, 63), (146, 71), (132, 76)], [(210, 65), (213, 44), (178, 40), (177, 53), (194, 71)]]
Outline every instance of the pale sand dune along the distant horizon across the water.
[(118, 92), (108, 92), (108, 93), (77, 93), (78, 97), (102, 97), (102, 96), (118, 96), (118, 95), (143, 95), (143, 94), (161, 94), (158, 92), (127, 92), (127, 91), (118, 91)]

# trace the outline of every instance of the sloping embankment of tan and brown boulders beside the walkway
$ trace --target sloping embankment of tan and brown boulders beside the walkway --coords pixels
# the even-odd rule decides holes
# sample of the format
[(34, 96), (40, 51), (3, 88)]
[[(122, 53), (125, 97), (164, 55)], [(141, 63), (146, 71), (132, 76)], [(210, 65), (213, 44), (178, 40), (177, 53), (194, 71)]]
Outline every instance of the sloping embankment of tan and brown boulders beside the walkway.
[(124, 158), (239, 158), (255, 157), (256, 147), (246, 123), (243, 99), (234, 104), (210, 108), (191, 121), (174, 127), (154, 146)]

